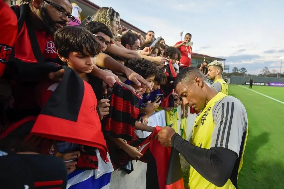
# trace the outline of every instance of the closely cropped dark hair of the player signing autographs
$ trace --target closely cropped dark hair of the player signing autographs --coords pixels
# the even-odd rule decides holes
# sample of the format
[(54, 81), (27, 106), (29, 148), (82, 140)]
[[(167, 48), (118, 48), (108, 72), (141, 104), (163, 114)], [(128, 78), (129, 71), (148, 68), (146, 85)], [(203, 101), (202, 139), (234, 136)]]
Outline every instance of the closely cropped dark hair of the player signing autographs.
[[(202, 73), (201, 70), (195, 67), (187, 67), (180, 70), (180, 72), (177, 74), (177, 77), (175, 78), (175, 82), (173, 83), (174, 88), (177, 86), (178, 83), (188, 83), (190, 85), (195, 77), (201, 78), (205, 83), (208, 83), (208, 80), (206, 76)], [(209, 84), (210, 85), (210, 84)]]

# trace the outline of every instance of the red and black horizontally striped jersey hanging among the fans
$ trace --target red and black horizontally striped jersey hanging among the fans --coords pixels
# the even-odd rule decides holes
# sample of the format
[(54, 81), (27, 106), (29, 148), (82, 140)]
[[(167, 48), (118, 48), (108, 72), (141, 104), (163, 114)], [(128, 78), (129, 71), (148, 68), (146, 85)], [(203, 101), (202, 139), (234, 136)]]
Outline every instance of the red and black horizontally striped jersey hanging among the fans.
[(126, 87), (115, 83), (110, 96), (109, 114), (103, 121), (103, 130), (114, 138), (131, 141), (139, 115), (140, 97)]

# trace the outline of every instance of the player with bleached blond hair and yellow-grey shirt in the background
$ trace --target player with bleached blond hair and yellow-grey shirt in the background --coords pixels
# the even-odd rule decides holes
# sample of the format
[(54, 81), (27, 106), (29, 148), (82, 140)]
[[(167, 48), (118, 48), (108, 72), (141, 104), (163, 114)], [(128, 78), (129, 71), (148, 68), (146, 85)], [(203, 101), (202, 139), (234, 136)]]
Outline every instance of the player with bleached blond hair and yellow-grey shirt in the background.
[(212, 86), (218, 91), (224, 94), (228, 94), (228, 84), (222, 79), (224, 72), (224, 65), (222, 62), (213, 61), (208, 64), (208, 77), (214, 80)]

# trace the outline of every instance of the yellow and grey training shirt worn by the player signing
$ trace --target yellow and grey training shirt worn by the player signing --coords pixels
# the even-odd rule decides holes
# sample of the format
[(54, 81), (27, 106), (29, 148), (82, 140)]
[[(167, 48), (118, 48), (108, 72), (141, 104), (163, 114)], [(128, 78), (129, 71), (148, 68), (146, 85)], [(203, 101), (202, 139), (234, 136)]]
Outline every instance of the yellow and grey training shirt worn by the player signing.
[[(214, 96), (195, 119), (191, 138), (193, 145), (206, 149), (224, 147), (238, 155), (231, 176), (222, 189), (236, 189), (247, 134), (248, 122), (243, 104), (222, 92)], [(219, 188), (203, 178), (193, 167), (190, 167), (188, 186), (190, 189)]]

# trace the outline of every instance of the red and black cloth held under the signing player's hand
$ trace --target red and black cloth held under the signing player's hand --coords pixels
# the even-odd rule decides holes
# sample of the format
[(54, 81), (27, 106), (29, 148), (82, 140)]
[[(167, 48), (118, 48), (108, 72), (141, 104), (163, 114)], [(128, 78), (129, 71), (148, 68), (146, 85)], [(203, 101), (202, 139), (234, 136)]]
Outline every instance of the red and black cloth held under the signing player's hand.
[[(184, 189), (178, 151), (171, 147), (163, 147), (154, 139), (160, 130), (161, 128), (156, 126), (154, 132), (147, 138), (135, 138), (127, 143), (139, 149), (143, 154), (139, 160), (147, 163), (146, 189)], [(116, 149), (113, 153), (110, 151), (110, 156), (115, 169), (122, 168), (135, 159), (122, 149)], [(131, 171), (133, 169), (129, 170)]]

